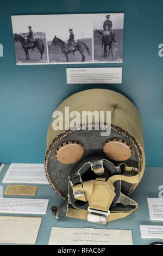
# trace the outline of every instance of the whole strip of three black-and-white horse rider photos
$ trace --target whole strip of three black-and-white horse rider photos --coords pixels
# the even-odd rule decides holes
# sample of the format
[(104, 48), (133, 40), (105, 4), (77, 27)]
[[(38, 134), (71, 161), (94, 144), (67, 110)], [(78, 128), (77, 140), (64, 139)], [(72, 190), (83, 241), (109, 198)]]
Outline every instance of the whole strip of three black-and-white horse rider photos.
[(123, 62), (123, 13), (11, 16), (17, 65)]

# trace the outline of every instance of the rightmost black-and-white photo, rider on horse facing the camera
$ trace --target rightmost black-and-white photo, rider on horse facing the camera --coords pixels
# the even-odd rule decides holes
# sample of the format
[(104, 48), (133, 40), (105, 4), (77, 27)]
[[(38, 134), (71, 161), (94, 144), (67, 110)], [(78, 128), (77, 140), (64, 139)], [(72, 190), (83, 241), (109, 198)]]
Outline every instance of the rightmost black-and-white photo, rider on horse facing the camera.
[(123, 13), (93, 16), (95, 62), (123, 62)]

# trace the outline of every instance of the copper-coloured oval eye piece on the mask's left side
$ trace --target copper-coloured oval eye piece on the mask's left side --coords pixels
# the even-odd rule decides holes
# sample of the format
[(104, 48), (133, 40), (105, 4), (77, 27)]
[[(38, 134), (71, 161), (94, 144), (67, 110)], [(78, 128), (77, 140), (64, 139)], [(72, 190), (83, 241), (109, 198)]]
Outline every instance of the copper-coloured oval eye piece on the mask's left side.
[(83, 144), (79, 141), (62, 142), (55, 150), (55, 157), (60, 163), (75, 163), (84, 154)]

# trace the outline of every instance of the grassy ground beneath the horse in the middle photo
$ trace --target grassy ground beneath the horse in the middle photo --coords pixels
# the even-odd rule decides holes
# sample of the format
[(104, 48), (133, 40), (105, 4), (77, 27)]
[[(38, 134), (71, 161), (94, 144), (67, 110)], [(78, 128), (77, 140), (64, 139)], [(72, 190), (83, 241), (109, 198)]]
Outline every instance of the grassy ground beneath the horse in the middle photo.
[[(85, 55), (85, 62), (91, 62), (92, 61), (92, 39), (86, 38), (86, 39), (80, 39), (78, 41), (84, 42), (84, 44), (86, 44), (87, 47), (89, 47), (91, 55), (87, 53), (86, 49), (84, 50), (83, 53)], [(48, 46), (48, 53), (49, 53), (49, 62), (54, 62), (54, 63), (67, 62), (65, 54), (62, 53), (59, 45)], [(74, 55), (72, 53), (68, 53), (68, 60), (69, 62), (82, 62), (82, 56), (79, 51), (74, 52)]]

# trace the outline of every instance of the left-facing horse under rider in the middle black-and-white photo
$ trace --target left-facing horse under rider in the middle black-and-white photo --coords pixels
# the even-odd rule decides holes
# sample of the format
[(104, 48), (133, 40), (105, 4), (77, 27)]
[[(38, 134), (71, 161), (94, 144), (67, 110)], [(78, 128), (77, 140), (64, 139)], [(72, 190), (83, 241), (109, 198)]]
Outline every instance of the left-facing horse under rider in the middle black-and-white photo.
[(80, 54), (82, 55), (82, 62), (85, 62), (85, 55), (84, 55), (85, 49), (86, 49), (87, 53), (88, 53), (89, 55), (91, 55), (91, 54), (90, 54), (89, 47), (87, 47), (87, 45), (84, 44), (84, 42), (77, 41), (77, 44), (76, 44), (76, 46), (74, 46), (74, 49), (67, 51), (67, 50), (66, 50), (66, 42), (64, 42), (64, 41), (62, 41), (61, 39), (57, 38), (57, 36), (55, 35), (55, 37), (54, 37), (54, 39), (53, 39), (53, 41), (52, 41), (52, 44), (53, 44), (53, 45), (59, 45), (59, 47), (61, 48), (62, 53), (65, 54), (65, 57), (66, 57), (67, 62), (69, 61), (69, 60), (68, 60), (68, 53), (72, 53), (72, 52), (74, 53), (74, 52), (76, 52), (76, 51), (79, 51)]

